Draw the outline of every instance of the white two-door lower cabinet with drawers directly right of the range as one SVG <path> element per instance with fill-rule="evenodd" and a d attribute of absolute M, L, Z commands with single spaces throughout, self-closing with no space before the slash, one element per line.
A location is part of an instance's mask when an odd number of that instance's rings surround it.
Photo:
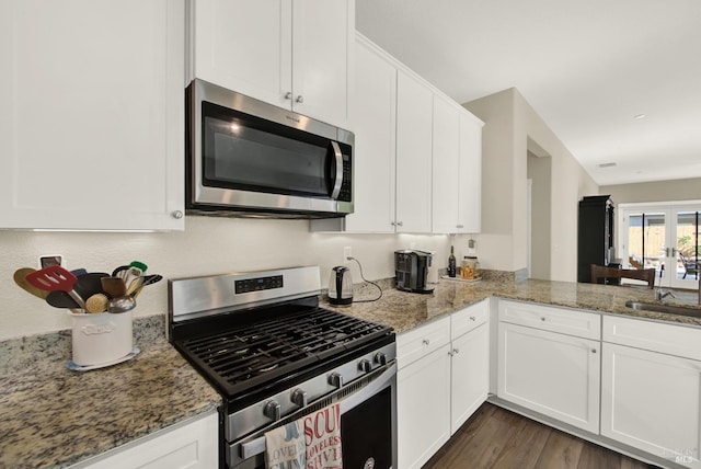
<path fill-rule="evenodd" d="M 489 300 L 399 335 L 399 468 L 421 468 L 486 400 Z"/>

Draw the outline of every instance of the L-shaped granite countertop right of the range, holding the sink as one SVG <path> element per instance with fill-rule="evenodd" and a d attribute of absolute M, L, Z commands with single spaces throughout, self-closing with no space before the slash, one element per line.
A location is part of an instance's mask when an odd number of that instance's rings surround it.
<path fill-rule="evenodd" d="M 357 302 L 357 300 L 377 297 L 377 289 L 370 286 L 363 287 L 355 293 L 355 301 L 349 307 L 335 307 L 323 301 L 324 307 L 391 325 L 398 333 L 409 331 L 492 296 L 701 327 L 701 318 L 628 308 L 625 306 L 628 300 L 659 302 L 655 300 L 655 291 L 645 286 L 612 286 L 536 279 L 521 282 L 484 279 L 475 283 L 441 279 L 434 293 L 427 295 L 401 291 L 390 287 L 389 284 L 382 285 L 382 298 L 378 301 Z M 675 295 L 676 298 L 666 298 L 665 304 L 701 310 L 701 306 L 697 305 L 697 291 L 676 290 Z"/>

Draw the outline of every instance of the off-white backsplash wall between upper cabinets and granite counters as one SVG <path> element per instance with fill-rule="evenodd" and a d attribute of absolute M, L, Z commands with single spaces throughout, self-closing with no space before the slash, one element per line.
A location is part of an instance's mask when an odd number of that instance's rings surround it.
<path fill-rule="evenodd" d="M 20 267 L 37 267 L 43 254 L 62 254 L 68 268 L 107 272 L 134 260 L 148 273 L 165 278 L 208 275 L 295 265 L 320 265 L 322 287 L 329 272 L 343 261 L 343 247 L 363 264 L 368 279 L 394 276 L 393 252 L 412 245 L 437 251 L 439 267 L 447 265 L 448 236 L 311 233 L 306 220 L 253 220 L 187 217 L 184 232 L 95 233 L 0 231 L 0 340 L 70 328 L 62 310 L 49 307 L 14 284 Z M 457 251 L 459 251 L 457 249 Z M 349 262 L 353 279 L 360 274 Z M 138 297 L 136 317 L 168 311 L 165 281 Z"/>

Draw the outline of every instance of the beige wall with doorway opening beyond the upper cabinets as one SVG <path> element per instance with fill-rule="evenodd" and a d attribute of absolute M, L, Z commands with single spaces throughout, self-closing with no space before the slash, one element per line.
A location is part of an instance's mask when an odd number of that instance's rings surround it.
<path fill-rule="evenodd" d="M 529 139 L 551 157 L 551 279 L 576 281 L 577 203 L 598 186 L 516 89 L 463 104 L 485 122 L 482 140 L 481 262 L 517 271 L 527 264 Z M 486 215 L 485 215 L 486 214 Z"/>

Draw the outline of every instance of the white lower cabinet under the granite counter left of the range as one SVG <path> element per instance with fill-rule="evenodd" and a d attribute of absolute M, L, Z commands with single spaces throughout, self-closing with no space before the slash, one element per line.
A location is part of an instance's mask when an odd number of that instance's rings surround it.
<path fill-rule="evenodd" d="M 71 469 L 216 469 L 219 419 L 216 411 L 164 428 Z"/>

